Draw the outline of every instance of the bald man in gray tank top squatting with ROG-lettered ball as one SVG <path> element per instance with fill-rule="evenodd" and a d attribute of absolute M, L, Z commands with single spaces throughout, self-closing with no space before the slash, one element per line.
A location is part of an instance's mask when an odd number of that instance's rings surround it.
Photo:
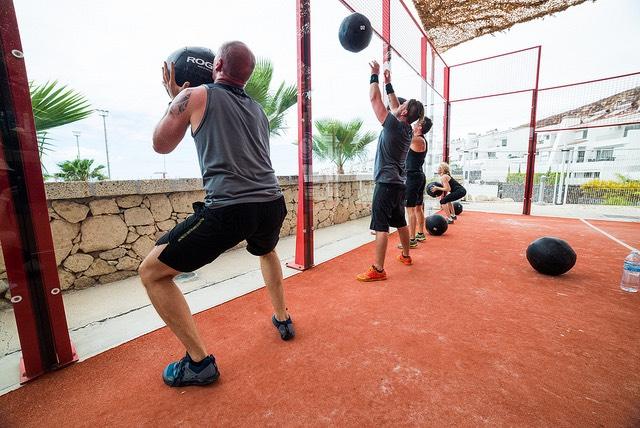
<path fill-rule="evenodd" d="M 220 376 L 173 278 L 211 263 L 241 241 L 260 258 L 273 325 L 283 340 L 295 335 L 275 251 L 287 209 L 271 167 L 269 121 L 244 92 L 254 67 L 251 50 L 236 41 L 220 47 L 213 84 L 178 86 L 174 64 L 163 69 L 172 102 L 153 133 L 153 148 L 170 153 L 190 127 L 206 193 L 193 204 L 194 214 L 161 237 L 140 265 L 151 303 L 187 351 L 164 369 L 169 386 L 208 385 Z"/>

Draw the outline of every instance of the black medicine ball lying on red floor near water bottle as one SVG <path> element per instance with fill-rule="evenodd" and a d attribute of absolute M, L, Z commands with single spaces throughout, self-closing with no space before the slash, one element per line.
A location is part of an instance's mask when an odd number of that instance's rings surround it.
<path fill-rule="evenodd" d="M 576 264 L 576 252 L 562 239 L 545 236 L 533 241 L 527 248 L 531 266 L 545 275 L 562 275 Z"/>

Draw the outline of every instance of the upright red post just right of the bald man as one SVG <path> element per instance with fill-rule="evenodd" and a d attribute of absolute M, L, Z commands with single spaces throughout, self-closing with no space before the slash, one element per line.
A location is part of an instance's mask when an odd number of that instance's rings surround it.
<path fill-rule="evenodd" d="M 298 220 L 293 269 L 313 267 L 313 122 L 311 118 L 311 0 L 297 0 Z"/>

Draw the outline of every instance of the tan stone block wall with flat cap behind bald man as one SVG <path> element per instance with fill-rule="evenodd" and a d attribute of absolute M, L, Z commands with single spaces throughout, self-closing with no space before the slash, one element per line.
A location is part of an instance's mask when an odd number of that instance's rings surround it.
<path fill-rule="evenodd" d="M 288 214 L 280 236 L 296 233 L 297 177 L 280 177 Z M 49 222 L 62 290 L 137 275 L 156 240 L 193 213 L 204 198 L 198 179 L 47 183 Z M 314 177 L 314 226 L 368 216 L 373 181 Z M 240 244 L 244 245 L 243 244 Z M 0 296 L 10 298 L 0 251 Z M 0 299 L 1 300 L 1 299 Z"/>

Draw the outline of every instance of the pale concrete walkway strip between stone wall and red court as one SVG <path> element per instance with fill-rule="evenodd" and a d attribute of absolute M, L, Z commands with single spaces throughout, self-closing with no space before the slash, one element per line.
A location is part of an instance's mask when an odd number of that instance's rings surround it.
<path fill-rule="evenodd" d="M 369 217 L 315 232 L 315 263 L 320 264 L 373 240 Z M 285 277 L 299 271 L 285 263 L 295 256 L 295 236 L 280 240 L 278 255 Z M 363 260 L 363 269 L 368 261 Z M 180 282 L 191 311 L 204 311 L 264 286 L 257 257 L 244 248 L 229 251 Z M 111 349 L 164 326 L 139 277 L 64 294 L 71 341 L 80 360 Z M 0 312 L 0 395 L 19 385 L 22 353 L 13 310 Z"/>

